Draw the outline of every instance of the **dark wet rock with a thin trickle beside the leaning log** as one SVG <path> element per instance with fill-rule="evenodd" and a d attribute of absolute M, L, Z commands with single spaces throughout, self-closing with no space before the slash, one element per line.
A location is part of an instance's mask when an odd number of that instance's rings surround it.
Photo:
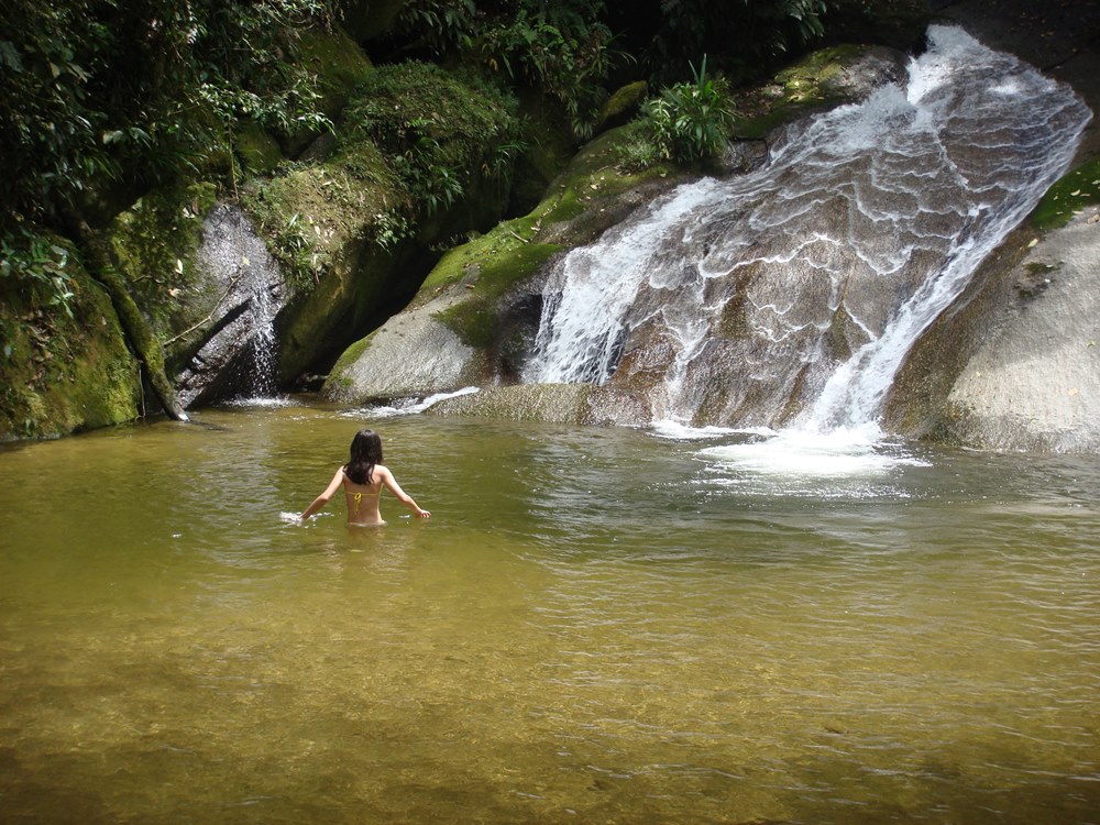
<path fill-rule="evenodd" d="M 176 376 L 184 406 L 275 392 L 275 317 L 288 295 L 278 266 L 234 206 L 211 210 L 196 266 L 218 295 L 202 343 Z"/>

